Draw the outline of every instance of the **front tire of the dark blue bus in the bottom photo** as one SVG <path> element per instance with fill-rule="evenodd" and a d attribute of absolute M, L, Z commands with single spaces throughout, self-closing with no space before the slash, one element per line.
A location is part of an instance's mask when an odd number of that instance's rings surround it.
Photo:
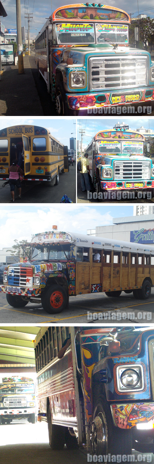
<path fill-rule="evenodd" d="M 108 453 L 127 455 L 132 452 L 131 430 L 122 430 L 113 425 L 110 405 L 102 396 L 98 398 L 97 404 L 94 406 L 90 445 L 92 454 L 97 456 L 100 454 L 105 456 Z"/>

